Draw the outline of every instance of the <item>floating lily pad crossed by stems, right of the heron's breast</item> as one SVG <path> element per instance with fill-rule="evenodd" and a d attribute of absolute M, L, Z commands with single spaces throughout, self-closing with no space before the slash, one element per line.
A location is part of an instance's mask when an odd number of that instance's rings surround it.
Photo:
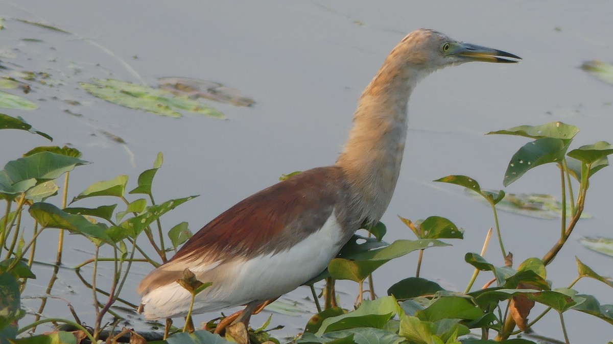
<path fill-rule="evenodd" d="M 468 195 L 483 200 L 474 192 L 467 191 Z M 543 193 L 507 193 L 504 199 L 496 206 L 498 210 L 511 212 L 517 215 L 536 217 L 538 219 L 560 219 L 562 217 L 562 203 L 552 195 Z M 566 216 L 571 216 L 570 206 L 566 206 Z M 592 215 L 581 213 L 582 219 L 589 219 Z"/>

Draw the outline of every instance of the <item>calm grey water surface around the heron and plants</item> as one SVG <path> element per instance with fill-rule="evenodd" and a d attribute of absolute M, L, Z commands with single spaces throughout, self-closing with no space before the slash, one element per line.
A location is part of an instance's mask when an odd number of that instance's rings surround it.
<path fill-rule="evenodd" d="M 156 153 L 162 151 L 164 166 L 154 187 L 157 200 L 201 195 L 168 214 L 167 228 L 188 221 L 196 231 L 245 196 L 276 182 L 282 173 L 333 163 L 360 92 L 398 40 L 422 27 L 524 58 L 519 65 L 467 64 L 437 72 L 411 97 L 405 163 L 383 219 L 389 231 L 387 241 L 411 238 L 396 215 L 412 220 L 441 215 L 465 230 L 464 241 L 425 252 L 422 277 L 463 290 L 472 272 L 463 263 L 463 255 L 479 252 L 485 232 L 493 225 L 488 207 L 466 198 L 458 187 L 432 182 L 447 174 L 466 174 L 482 187 L 500 189 L 508 160 L 525 140 L 482 134 L 563 121 L 581 129 L 574 147 L 613 141 L 613 88 L 578 69 L 586 60 L 611 61 L 611 1 L 19 0 L 0 1 L 0 8 L 7 27 L 0 35 L 0 50 L 9 55 L 2 61 L 48 71 L 64 83 L 58 88 L 39 87 L 27 96 L 35 101 L 45 99 L 38 101 L 39 110 L 6 113 L 23 116 L 53 136 L 53 144 L 70 143 L 83 152 L 83 159 L 93 162 L 71 175 L 70 197 L 94 181 L 118 174 L 128 174 L 130 185 L 135 185 L 138 174 L 150 168 Z M 72 34 L 15 19 L 53 24 Z M 91 77 L 153 85 L 157 78 L 168 76 L 219 81 L 253 97 L 256 105 L 239 108 L 211 102 L 226 113 L 227 120 L 193 114 L 162 118 L 95 99 L 76 86 L 77 81 Z M 78 100 L 83 105 L 72 106 L 63 100 Z M 101 130 L 120 136 L 126 144 L 109 140 Z M 0 140 L 2 163 L 48 144 L 23 132 L 2 132 Z M 603 170 L 593 179 L 586 212 L 594 218 L 577 226 L 575 238 L 611 237 L 611 178 L 611 170 Z M 530 171 L 506 190 L 558 195 L 557 168 Z M 559 231 L 554 220 L 501 213 L 500 221 L 506 248 L 517 263 L 542 256 Z M 45 240 L 55 241 L 56 231 L 46 235 Z M 77 249 L 89 247 L 83 243 L 70 237 L 66 266 L 91 256 Z M 55 244 L 48 251 L 39 249 L 37 259 L 53 261 L 54 252 Z M 501 264 L 499 255 L 492 242 L 486 257 Z M 576 276 L 575 255 L 597 272 L 613 275 L 611 258 L 571 239 L 549 268 L 548 278 L 555 287 L 567 286 Z M 406 256 L 378 271 L 377 293 L 385 294 L 400 277 L 414 274 L 416 256 Z M 136 285 L 149 269 L 135 266 L 130 284 Z M 91 270 L 84 271 L 91 274 Z M 44 293 L 50 271 L 40 268 L 36 273 L 38 279 L 28 290 L 31 295 Z M 482 276 L 476 285 L 488 279 Z M 576 288 L 595 294 L 604 304 L 613 303 L 611 289 L 599 283 L 582 281 Z M 351 305 L 357 286 L 341 283 L 340 289 L 349 293 L 341 296 L 343 304 Z M 54 293 L 69 298 L 82 319 L 93 315 L 88 305 L 91 292 L 72 271 L 61 273 Z M 300 288 L 289 298 L 300 300 L 308 295 L 306 288 Z M 132 288 L 124 297 L 136 303 L 139 299 Z M 38 301 L 27 301 L 26 306 L 36 309 Z M 45 316 L 66 314 L 60 301 L 50 301 L 45 310 Z M 536 314 L 534 310 L 533 316 Z M 254 323 L 266 316 L 257 316 Z M 611 327 L 603 321 L 577 312 L 565 316 L 571 342 L 586 342 L 586 338 L 592 343 L 606 342 L 613 337 Z M 211 317 L 201 315 L 196 320 Z M 275 314 L 273 324 L 286 324 L 281 333 L 293 334 L 307 317 Z M 548 315 L 536 330 L 562 337 L 555 314 Z"/>

